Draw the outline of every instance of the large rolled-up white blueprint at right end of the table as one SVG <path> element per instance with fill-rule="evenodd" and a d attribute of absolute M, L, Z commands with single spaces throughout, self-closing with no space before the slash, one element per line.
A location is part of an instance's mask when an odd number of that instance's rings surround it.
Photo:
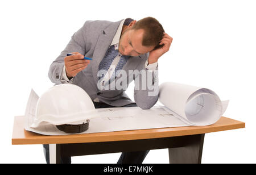
<path fill-rule="evenodd" d="M 229 102 L 221 102 L 210 89 L 175 82 L 164 82 L 159 86 L 159 101 L 183 122 L 194 126 L 217 122 Z"/>

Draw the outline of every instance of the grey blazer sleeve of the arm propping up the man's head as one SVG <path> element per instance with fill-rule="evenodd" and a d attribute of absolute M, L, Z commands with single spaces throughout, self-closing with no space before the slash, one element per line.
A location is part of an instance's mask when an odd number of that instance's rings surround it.
<path fill-rule="evenodd" d="M 158 101 L 158 65 L 155 70 L 148 70 L 144 62 L 142 61 L 142 69 L 134 78 L 134 101 L 142 109 L 150 109 Z"/>

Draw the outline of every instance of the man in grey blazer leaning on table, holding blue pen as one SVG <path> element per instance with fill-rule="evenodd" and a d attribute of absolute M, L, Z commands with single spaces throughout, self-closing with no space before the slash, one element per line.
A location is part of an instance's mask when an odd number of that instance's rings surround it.
<path fill-rule="evenodd" d="M 118 22 L 89 20 L 52 62 L 49 78 L 55 85 L 69 83 L 82 87 L 96 108 L 150 109 L 158 101 L 158 59 L 171 43 L 172 38 L 152 17 L 138 22 L 131 18 Z M 75 55 L 67 56 L 71 52 Z M 125 93 L 133 80 L 135 102 Z M 48 162 L 48 145 L 44 148 Z M 123 152 L 118 163 L 142 163 L 147 153 Z M 61 162 L 71 163 L 71 158 L 61 157 Z"/>

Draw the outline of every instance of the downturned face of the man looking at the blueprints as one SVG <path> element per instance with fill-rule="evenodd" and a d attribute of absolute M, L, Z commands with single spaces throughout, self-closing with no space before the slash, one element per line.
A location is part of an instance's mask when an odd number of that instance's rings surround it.
<path fill-rule="evenodd" d="M 143 30 L 131 30 L 127 28 L 121 35 L 118 50 L 122 55 L 139 56 L 152 51 L 154 46 L 146 47 L 142 45 Z"/>

